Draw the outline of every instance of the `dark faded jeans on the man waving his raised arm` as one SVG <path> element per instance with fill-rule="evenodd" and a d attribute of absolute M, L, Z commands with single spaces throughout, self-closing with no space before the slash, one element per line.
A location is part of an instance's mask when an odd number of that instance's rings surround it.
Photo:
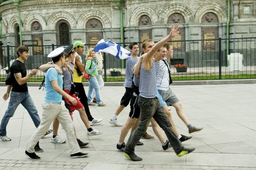
<path fill-rule="evenodd" d="M 166 116 L 164 107 L 160 105 L 158 98 L 143 98 L 139 97 L 138 105 L 140 106 L 140 121 L 136 130 L 129 137 L 125 153 L 134 153 L 135 146 L 140 140 L 141 136 L 146 133 L 146 129 L 149 120 L 153 117 L 159 126 L 165 131 L 165 135 L 173 147 L 176 154 L 183 150 L 183 145 L 181 141 L 175 136 L 172 131 L 170 120 Z"/>

